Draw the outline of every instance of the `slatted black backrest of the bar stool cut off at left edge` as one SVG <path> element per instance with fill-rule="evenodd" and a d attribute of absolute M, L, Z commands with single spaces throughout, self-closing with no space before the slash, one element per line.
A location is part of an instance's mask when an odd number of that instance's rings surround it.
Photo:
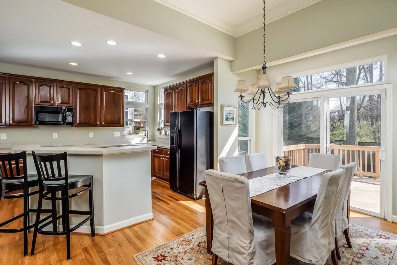
<path fill-rule="evenodd" d="M 0 155 L 0 182 L 18 179 L 27 181 L 26 152 Z"/>

